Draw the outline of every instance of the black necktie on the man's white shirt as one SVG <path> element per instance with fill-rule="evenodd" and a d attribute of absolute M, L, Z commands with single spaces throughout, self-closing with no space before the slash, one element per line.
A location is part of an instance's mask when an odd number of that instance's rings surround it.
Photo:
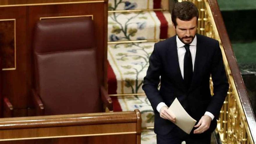
<path fill-rule="evenodd" d="M 184 82 L 189 89 L 193 77 L 193 64 L 189 45 L 184 45 L 184 47 L 186 49 L 184 56 Z"/>

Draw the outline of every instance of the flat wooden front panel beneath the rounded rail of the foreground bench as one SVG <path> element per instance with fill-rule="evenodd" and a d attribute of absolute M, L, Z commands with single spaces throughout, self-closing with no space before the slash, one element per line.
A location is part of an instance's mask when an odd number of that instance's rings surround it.
<path fill-rule="evenodd" d="M 0 138 L 1 140 L 19 138 L 35 139 L 67 136 L 116 135 L 123 134 L 123 132 L 128 134 L 136 134 L 136 123 L 81 125 L 66 127 L 63 126 L 31 129 L 9 129 L 1 130 Z"/>

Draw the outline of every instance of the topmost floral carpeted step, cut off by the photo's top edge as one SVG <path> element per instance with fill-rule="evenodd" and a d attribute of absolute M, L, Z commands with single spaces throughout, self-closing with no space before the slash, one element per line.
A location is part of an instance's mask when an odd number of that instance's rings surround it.
<path fill-rule="evenodd" d="M 168 9 L 168 0 L 109 0 L 109 10 Z"/>

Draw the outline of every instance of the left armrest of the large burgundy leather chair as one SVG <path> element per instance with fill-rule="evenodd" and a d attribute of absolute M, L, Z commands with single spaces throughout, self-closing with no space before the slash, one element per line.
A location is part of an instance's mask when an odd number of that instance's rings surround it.
<path fill-rule="evenodd" d="M 44 105 L 34 89 L 32 89 L 33 103 L 36 109 L 36 115 L 44 115 Z"/>

